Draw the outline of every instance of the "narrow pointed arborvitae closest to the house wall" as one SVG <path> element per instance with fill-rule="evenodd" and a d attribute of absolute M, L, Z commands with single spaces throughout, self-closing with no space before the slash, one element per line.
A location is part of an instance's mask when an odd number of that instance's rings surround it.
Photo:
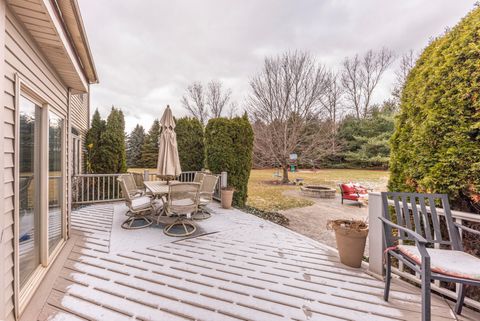
<path fill-rule="evenodd" d="M 95 110 L 90 129 L 88 130 L 85 139 L 85 144 L 87 146 L 85 157 L 87 173 L 102 172 L 103 147 L 101 137 L 105 132 L 105 127 L 105 120 L 100 117 L 98 109 Z"/>

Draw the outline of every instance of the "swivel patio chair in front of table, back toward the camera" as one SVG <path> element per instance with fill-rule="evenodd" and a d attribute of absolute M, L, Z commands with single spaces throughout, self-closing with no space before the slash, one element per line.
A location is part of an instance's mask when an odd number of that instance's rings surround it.
<path fill-rule="evenodd" d="M 176 183 L 169 186 L 165 203 L 167 216 L 177 216 L 176 220 L 165 226 L 163 232 L 168 236 L 188 236 L 197 230 L 191 221 L 198 210 L 199 183 Z M 178 231 L 179 230 L 179 231 Z"/>

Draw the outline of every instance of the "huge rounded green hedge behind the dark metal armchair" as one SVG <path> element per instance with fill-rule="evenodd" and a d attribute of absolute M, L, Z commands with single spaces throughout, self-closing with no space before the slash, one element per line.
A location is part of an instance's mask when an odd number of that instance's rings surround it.
<path fill-rule="evenodd" d="M 480 8 L 435 39 L 410 72 L 391 139 L 389 189 L 480 202 Z"/>

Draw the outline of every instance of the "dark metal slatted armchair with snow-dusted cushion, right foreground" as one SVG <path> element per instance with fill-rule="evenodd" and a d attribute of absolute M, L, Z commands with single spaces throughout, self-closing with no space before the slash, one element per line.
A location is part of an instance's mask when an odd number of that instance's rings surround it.
<path fill-rule="evenodd" d="M 432 280 L 459 284 L 455 312 L 461 314 L 465 286 L 480 285 L 480 259 L 463 251 L 460 232 L 480 235 L 480 231 L 453 221 L 445 194 L 384 192 L 382 201 L 383 215 L 379 218 L 383 223 L 386 246 L 385 301 L 388 301 L 394 257 L 420 275 L 422 320 L 431 319 Z M 441 216 L 448 235 L 442 235 Z M 432 248 L 435 244 L 442 248 Z"/>

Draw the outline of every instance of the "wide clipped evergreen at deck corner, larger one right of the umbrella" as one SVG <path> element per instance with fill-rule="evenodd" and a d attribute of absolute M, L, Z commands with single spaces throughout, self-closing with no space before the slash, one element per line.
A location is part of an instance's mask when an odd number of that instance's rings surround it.
<path fill-rule="evenodd" d="M 246 116 L 210 119 L 205 129 L 208 169 L 228 173 L 228 185 L 235 188 L 233 204 L 243 207 L 252 168 L 253 129 Z"/>

